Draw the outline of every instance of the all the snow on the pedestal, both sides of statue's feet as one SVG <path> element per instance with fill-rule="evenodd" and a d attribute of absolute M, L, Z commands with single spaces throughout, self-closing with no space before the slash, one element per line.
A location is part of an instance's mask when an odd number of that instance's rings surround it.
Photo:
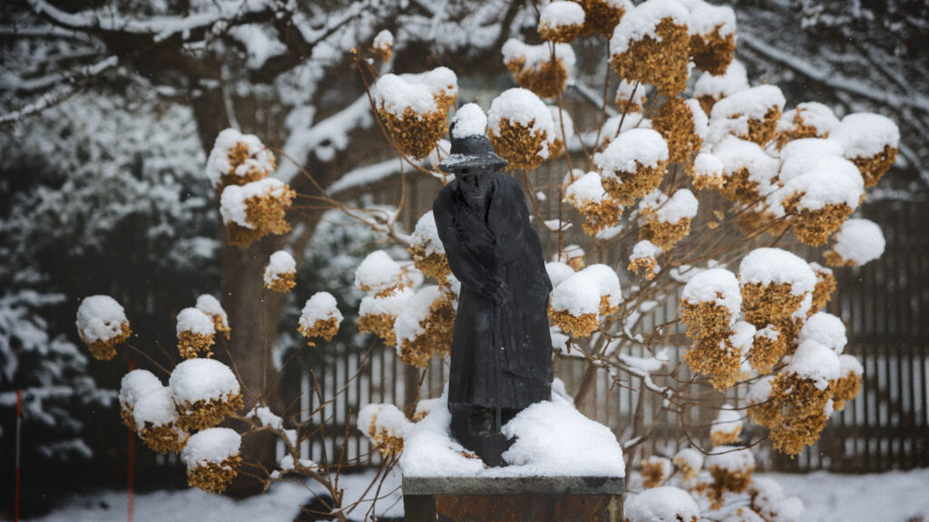
<path fill-rule="evenodd" d="M 403 476 L 625 476 L 622 447 L 609 428 L 554 393 L 504 424 L 504 435 L 515 438 L 504 452 L 504 467 L 485 468 L 479 458 L 466 456 L 450 425 L 443 395 L 403 437 Z"/>

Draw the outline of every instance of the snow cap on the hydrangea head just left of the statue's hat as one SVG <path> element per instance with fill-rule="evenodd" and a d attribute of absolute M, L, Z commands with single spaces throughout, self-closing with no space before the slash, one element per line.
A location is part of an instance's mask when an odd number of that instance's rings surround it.
<path fill-rule="evenodd" d="M 398 118 L 412 110 L 417 117 L 438 110 L 435 97 L 458 94 L 458 78 L 447 67 L 419 74 L 385 74 L 374 84 L 374 102 L 378 109 Z"/>

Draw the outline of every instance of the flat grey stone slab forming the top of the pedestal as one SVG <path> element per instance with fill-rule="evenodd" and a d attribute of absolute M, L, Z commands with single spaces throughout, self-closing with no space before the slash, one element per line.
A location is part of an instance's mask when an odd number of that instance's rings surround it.
<path fill-rule="evenodd" d="M 622 476 L 404 476 L 405 495 L 622 495 Z"/>

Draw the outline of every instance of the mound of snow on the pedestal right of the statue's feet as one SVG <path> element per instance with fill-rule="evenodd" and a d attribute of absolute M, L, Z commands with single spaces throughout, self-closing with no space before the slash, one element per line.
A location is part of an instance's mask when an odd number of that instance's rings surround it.
<path fill-rule="evenodd" d="M 503 456 L 521 476 L 625 476 L 613 432 L 556 394 L 520 411 L 502 431 L 516 438 Z"/>

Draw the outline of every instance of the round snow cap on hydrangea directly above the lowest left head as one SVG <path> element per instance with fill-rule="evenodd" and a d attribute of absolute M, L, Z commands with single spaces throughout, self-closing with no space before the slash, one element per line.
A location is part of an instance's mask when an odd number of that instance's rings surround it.
<path fill-rule="evenodd" d="M 177 404 L 185 401 L 234 396 L 239 393 L 239 381 L 229 366 L 216 359 L 188 359 L 178 364 L 168 379 L 171 394 Z"/>

